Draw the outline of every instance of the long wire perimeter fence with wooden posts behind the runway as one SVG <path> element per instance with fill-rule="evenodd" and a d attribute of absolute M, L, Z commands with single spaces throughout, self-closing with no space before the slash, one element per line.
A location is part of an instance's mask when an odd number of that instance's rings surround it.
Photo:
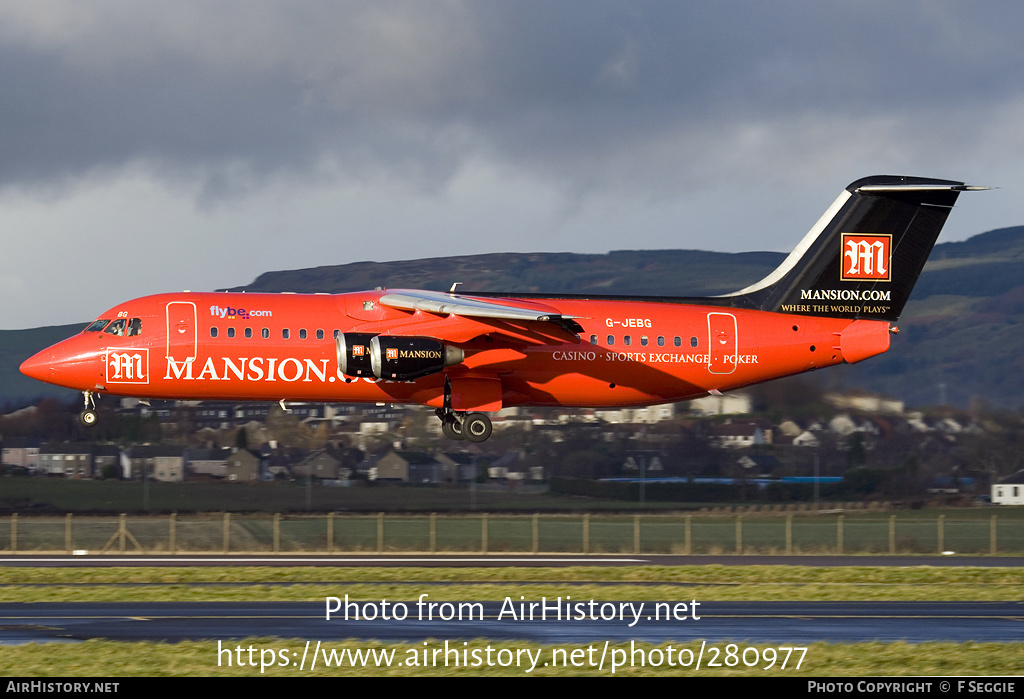
<path fill-rule="evenodd" d="M 3 530 L 9 536 L 3 537 Z M 6 540 L 3 540 L 6 538 Z M 0 553 L 1024 554 L 1024 520 L 842 514 L 0 518 Z"/>

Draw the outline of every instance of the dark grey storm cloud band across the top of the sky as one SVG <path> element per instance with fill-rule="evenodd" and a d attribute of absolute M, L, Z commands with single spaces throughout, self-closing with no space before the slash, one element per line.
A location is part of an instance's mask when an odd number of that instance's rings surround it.
<path fill-rule="evenodd" d="M 31 20 L 0 35 L 0 184 L 143 162 L 208 193 L 325 172 L 429 186 L 472 157 L 593 184 L 749 124 L 893 117 L 920 133 L 1024 88 L 1010 4 L 127 7 L 56 38 Z"/>

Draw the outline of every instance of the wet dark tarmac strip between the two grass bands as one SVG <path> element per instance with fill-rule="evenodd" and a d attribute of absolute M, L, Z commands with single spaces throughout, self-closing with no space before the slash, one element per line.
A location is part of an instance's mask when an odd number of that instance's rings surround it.
<path fill-rule="evenodd" d="M 0 643 L 267 637 L 387 642 L 485 638 L 545 644 L 693 640 L 770 644 L 1024 642 L 1022 602 L 703 601 L 693 605 L 694 601 L 684 599 L 605 603 L 564 597 L 473 604 L 440 597 L 432 597 L 431 601 L 438 605 L 429 610 L 434 617 L 431 619 L 426 618 L 425 606 L 409 599 L 388 605 L 382 605 L 380 600 L 358 601 L 358 606 L 348 607 L 347 620 L 344 606 L 327 619 L 326 601 L 2 604 Z M 445 602 L 447 607 L 443 606 Z M 529 603 L 537 604 L 530 608 Z"/>

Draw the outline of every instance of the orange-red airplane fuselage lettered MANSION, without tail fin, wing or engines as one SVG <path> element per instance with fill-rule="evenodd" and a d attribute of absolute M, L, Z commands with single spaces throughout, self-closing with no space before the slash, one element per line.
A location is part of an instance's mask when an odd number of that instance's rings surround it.
<path fill-rule="evenodd" d="M 135 299 L 39 358 L 38 378 L 146 398 L 420 403 L 457 409 L 625 406 L 685 400 L 889 347 L 889 323 L 684 303 L 559 299 L 581 341 L 493 319 L 382 305 L 386 292 L 341 295 L 182 293 Z M 522 300 L 509 298 L 522 305 Z M 530 299 L 530 304 L 543 300 Z M 115 321 L 123 320 L 118 324 Z M 540 324 L 540 323 L 538 323 Z M 389 325 L 458 342 L 464 359 L 415 381 L 351 377 L 339 334 Z M 422 332 L 417 332 L 417 329 Z M 386 331 L 385 331 L 386 333 Z M 495 342 L 495 335 L 505 342 Z M 845 338 L 845 339 L 844 339 Z M 424 350 L 429 351 L 429 350 Z"/>

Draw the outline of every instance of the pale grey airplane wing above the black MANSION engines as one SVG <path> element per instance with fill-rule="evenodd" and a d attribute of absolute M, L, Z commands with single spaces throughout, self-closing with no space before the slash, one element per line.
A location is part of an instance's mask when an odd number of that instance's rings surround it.
<path fill-rule="evenodd" d="M 380 303 L 390 308 L 408 311 L 425 311 L 439 315 L 460 315 L 469 318 L 496 318 L 499 320 L 536 320 L 551 322 L 575 335 L 583 332 L 573 315 L 562 315 L 557 309 L 542 304 L 511 305 L 484 299 L 475 299 L 444 292 L 395 290 L 381 296 Z"/>

